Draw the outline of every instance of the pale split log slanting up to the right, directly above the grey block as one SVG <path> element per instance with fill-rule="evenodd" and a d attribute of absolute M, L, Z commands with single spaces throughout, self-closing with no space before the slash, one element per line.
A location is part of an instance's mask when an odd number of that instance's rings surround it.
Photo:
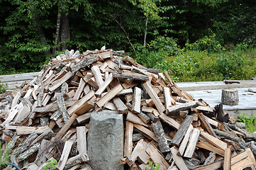
<path fill-rule="evenodd" d="M 123 86 L 121 84 L 115 86 L 113 89 L 111 89 L 111 91 L 108 91 L 106 95 L 104 95 L 98 101 L 96 101 L 96 105 L 99 106 L 99 108 L 101 108 L 102 106 L 104 106 L 105 103 L 110 101 L 113 97 L 116 96 L 116 94 L 118 94 L 122 90 Z"/>

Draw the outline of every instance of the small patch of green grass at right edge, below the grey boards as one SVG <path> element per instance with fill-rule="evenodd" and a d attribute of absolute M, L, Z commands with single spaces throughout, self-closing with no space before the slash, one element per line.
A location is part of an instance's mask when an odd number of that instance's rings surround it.
<path fill-rule="evenodd" d="M 238 116 L 238 121 L 245 123 L 248 132 L 256 132 L 256 116 L 255 115 L 240 115 Z"/>

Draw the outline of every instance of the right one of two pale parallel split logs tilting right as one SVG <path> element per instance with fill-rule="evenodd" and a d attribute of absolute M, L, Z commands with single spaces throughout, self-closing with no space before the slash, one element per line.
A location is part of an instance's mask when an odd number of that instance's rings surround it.
<path fill-rule="evenodd" d="M 196 143 L 199 140 L 200 130 L 194 128 L 192 130 L 191 135 L 189 137 L 189 143 L 187 145 L 186 152 L 184 153 L 184 157 L 191 158 L 194 154 L 194 150 L 196 149 Z"/>

